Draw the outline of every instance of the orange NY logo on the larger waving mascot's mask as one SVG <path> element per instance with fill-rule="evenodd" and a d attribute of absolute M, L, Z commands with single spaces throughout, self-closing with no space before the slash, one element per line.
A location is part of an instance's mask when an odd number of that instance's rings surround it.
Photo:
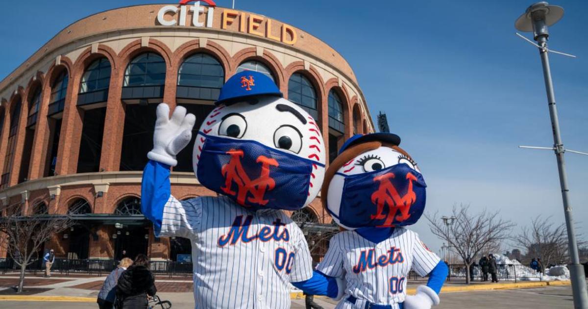
<path fill-rule="evenodd" d="M 255 180 L 250 180 L 249 175 L 243 169 L 241 158 L 243 158 L 243 151 L 240 149 L 231 149 L 226 152 L 230 155 L 229 163 L 222 166 L 222 175 L 225 178 L 225 187 L 220 190 L 228 195 L 237 198 L 239 205 L 245 205 L 245 201 L 251 204 L 265 205 L 268 200 L 264 200 L 263 196 L 266 191 L 273 190 L 276 187 L 276 182 L 269 175 L 269 167 L 278 166 L 278 161 L 260 155 L 256 162 L 261 163 L 261 174 Z M 237 192 L 231 189 L 233 183 L 237 185 Z M 250 195 L 248 197 L 248 194 Z"/>

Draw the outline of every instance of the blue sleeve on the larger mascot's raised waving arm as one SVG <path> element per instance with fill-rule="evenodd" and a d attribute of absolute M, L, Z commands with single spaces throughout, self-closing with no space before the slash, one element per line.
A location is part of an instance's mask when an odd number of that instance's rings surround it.
<path fill-rule="evenodd" d="M 153 231 L 159 235 L 163 208 L 171 195 L 169 165 L 149 160 L 141 181 L 141 211 L 153 222 Z"/>

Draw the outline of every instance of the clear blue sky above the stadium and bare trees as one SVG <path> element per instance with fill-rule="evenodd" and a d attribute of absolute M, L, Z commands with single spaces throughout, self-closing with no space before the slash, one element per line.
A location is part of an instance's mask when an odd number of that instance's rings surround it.
<path fill-rule="evenodd" d="M 1 1 L 0 77 L 77 19 L 161 2 Z M 537 49 L 515 36 L 515 19 L 532 3 L 236 0 L 236 8 L 304 29 L 348 60 L 372 115 L 386 112 L 419 162 L 427 212 L 468 203 L 499 210 L 519 231 L 539 214 L 564 222 L 553 152 L 517 148 L 553 144 Z M 550 47 L 578 56 L 550 57 L 563 141 L 588 151 L 588 2 L 551 4 L 566 13 L 550 28 Z M 588 156 L 566 160 L 576 228 L 588 235 Z M 438 252 L 424 218 L 413 229 Z"/>

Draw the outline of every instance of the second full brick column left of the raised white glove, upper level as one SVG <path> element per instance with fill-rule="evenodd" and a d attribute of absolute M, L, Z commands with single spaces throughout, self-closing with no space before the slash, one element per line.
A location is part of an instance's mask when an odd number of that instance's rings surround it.
<path fill-rule="evenodd" d="M 82 138 L 83 111 L 78 111 L 79 72 L 69 72 L 64 114 L 55 171 L 58 175 L 75 174 L 78 168 L 79 143 Z"/>

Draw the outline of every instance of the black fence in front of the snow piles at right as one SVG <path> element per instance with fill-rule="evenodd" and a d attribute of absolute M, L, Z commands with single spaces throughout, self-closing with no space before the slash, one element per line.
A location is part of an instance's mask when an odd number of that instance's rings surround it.
<path fill-rule="evenodd" d="M 468 274 L 472 281 L 483 281 L 482 268 L 479 265 L 470 266 Z M 450 264 L 447 280 L 452 278 L 466 278 L 467 268 L 463 264 Z M 500 281 L 540 281 L 542 273 L 533 270 L 526 265 L 520 264 L 498 264 L 496 265 L 496 278 Z M 492 280 L 492 274 L 488 273 L 488 280 Z"/>

